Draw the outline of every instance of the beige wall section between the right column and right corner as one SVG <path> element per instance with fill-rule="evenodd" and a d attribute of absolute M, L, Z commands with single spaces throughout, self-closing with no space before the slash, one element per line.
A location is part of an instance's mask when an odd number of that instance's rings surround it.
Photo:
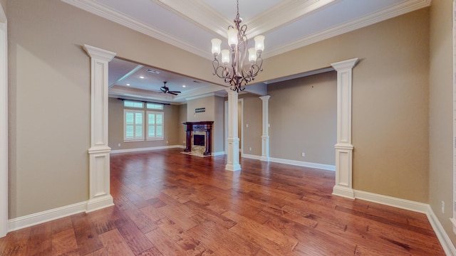
<path fill-rule="evenodd" d="M 353 69 L 353 188 L 428 202 L 428 9 L 344 37 Z M 361 36 L 362 35 L 362 36 Z"/>

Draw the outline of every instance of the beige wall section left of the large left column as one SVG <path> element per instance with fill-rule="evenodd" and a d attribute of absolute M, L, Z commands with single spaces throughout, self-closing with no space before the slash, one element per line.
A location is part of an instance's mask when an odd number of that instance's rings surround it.
<path fill-rule="evenodd" d="M 16 218 L 88 199 L 90 62 L 74 43 L 79 36 L 58 23 L 70 11 L 56 11 L 60 1 L 7 5 L 9 218 Z"/>

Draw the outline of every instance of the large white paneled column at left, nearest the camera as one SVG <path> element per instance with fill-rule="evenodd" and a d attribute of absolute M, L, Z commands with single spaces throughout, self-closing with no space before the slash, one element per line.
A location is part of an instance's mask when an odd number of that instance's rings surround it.
<path fill-rule="evenodd" d="M 90 56 L 90 187 L 86 210 L 90 212 L 114 205 L 109 188 L 108 63 L 115 53 L 88 45 L 83 48 Z"/>

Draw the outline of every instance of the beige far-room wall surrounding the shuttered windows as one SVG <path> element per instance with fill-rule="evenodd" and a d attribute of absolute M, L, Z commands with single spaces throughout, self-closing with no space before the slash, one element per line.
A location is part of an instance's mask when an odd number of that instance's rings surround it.
<path fill-rule="evenodd" d="M 180 122 L 179 105 L 164 105 L 163 114 L 165 116 L 164 138 L 163 140 L 144 142 L 124 142 L 123 141 L 123 101 L 117 98 L 109 98 L 109 124 L 108 124 L 108 143 L 111 149 L 140 149 L 154 146 L 175 146 L 182 145 L 180 132 L 184 130 Z M 147 109 L 143 109 L 147 112 Z M 158 111 L 160 110 L 152 110 Z M 120 144 L 120 146 L 118 146 Z"/>

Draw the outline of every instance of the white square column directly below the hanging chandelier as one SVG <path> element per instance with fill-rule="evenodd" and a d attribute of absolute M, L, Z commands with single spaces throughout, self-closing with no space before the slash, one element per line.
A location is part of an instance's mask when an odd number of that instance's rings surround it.
<path fill-rule="evenodd" d="M 228 92 L 228 137 L 227 137 L 227 171 L 239 171 L 239 137 L 237 137 L 237 92 L 227 88 Z"/>

